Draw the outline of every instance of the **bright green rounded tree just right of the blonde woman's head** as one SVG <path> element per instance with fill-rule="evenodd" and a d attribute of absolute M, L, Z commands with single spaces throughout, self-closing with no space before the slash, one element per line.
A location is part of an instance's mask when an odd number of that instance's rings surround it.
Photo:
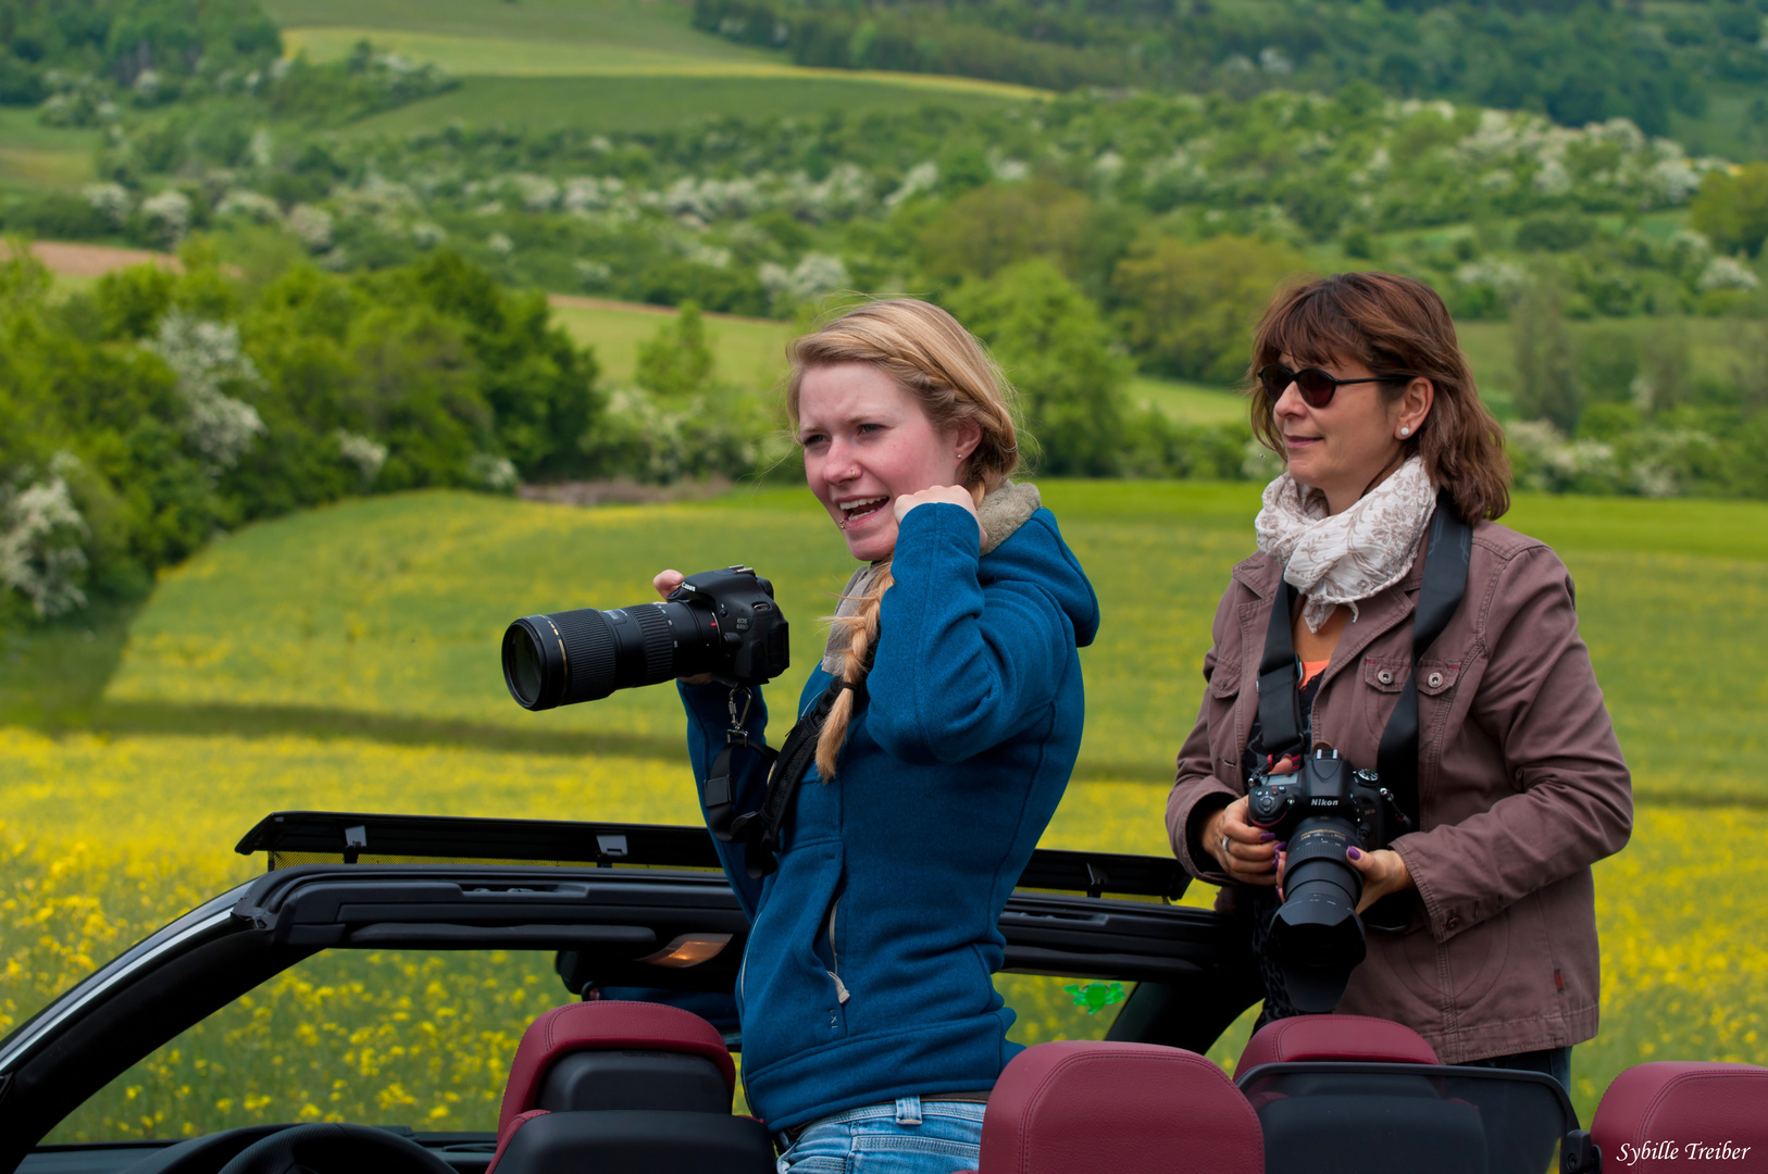
<path fill-rule="evenodd" d="M 1052 262 L 972 278 L 948 302 L 1018 387 L 1043 472 L 1119 472 L 1130 364 L 1112 354 L 1098 308 Z"/>

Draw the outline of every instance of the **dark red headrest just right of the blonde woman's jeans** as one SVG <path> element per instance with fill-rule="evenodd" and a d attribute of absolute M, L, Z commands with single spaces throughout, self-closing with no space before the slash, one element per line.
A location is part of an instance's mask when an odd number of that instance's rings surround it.
<path fill-rule="evenodd" d="M 1153 1043 L 1040 1043 L 983 1116 L 981 1174 L 1264 1174 L 1252 1105 L 1216 1064 Z"/>

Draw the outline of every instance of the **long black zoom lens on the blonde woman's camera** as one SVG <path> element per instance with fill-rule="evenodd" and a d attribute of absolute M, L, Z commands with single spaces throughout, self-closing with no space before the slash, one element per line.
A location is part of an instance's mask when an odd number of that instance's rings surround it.
<path fill-rule="evenodd" d="M 707 672 L 713 615 L 684 603 L 525 615 L 504 631 L 504 684 L 523 709 L 553 709 L 615 690 Z"/>

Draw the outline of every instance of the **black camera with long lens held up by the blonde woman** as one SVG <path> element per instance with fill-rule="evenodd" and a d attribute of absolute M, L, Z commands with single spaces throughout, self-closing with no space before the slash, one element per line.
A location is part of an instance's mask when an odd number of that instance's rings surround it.
<path fill-rule="evenodd" d="M 773 583 L 746 566 L 690 575 L 667 601 L 525 615 L 504 631 L 504 684 L 525 709 L 702 672 L 730 688 L 766 684 L 789 665 Z"/>

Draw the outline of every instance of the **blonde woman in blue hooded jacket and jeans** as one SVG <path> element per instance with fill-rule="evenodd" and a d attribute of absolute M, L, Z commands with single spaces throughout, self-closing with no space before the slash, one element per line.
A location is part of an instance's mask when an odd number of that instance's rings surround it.
<path fill-rule="evenodd" d="M 1008 479 L 1010 396 L 976 339 L 914 299 L 792 345 L 804 479 L 861 566 L 799 697 L 827 721 L 778 870 L 755 879 L 720 843 L 751 923 L 743 1082 L 783 1174 L 974 1169 L 1018 1050 L 995 923 L 1080 748 L 1075 649 L 1098 601 L 1038 490 Z M 732 702 L 755 741 L 767 714 L 716 684 L 681 693 L 704 790 Z M 735 810 L 760 804 L 764 774 L 734 773 Z"/>

